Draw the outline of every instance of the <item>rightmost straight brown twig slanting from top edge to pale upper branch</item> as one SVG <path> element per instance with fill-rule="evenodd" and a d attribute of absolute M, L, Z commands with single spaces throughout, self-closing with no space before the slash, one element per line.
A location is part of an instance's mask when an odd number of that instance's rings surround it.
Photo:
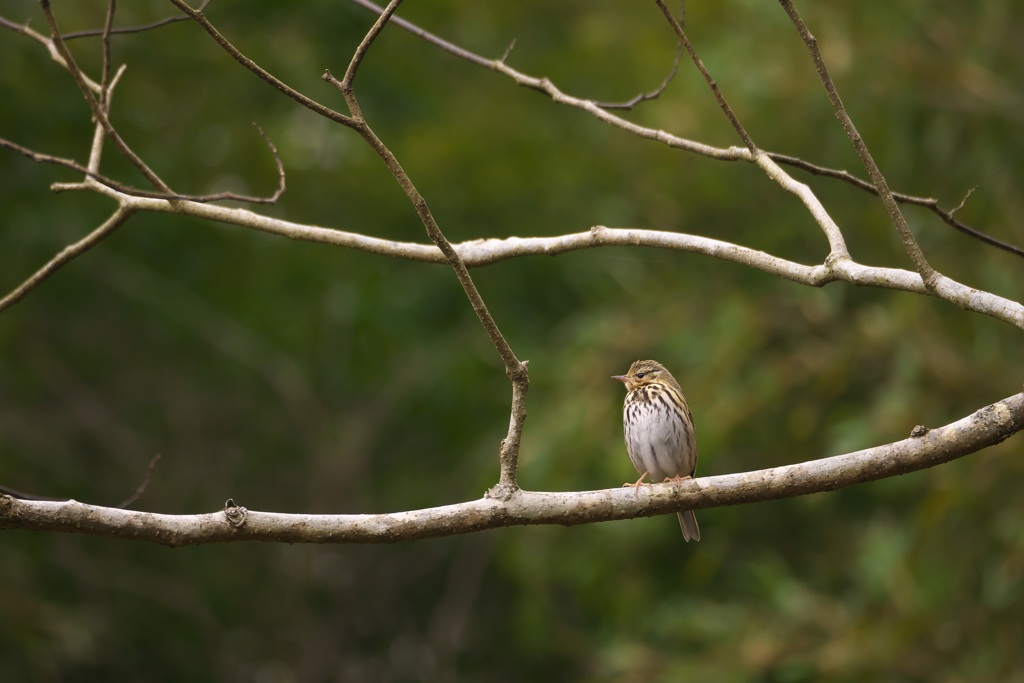
<path fill-rule="evenodd" d="M 657 1 L 660 2 L 660 0 Z M 811 54 L 814 68 L 818 72 L 818 78 L 821 79 L 821 85 L 824 86 L 825 93 L 828 95 L 828 101 L 831 102 L 833 110 L 836 112 L 836 117 L 843 124 L 843 130 L 846 131 L 850 141 L 853 142 L 853 146 L 857 151 L 857 156 L 860 157 L 860 161 L 867 170 L 867 174 L 871 177 L 871 182 L 878 189 L 879 197 L 882 198 L 882 203 L 885 204 L 889 216 L 892 218 L 893 223 L 896 224 L 896 229 L 903 241 L 903 248 L 906 250 L 910 260 L 913 261 L 914 266 L 916 266 L 918 272 L 921 273 L 922 280 L 925 281 L 925 285 L 934 288 L 941 275 L 932 268 L 928 259 L 925 258 L 925 253 L 918 245 L 918 241 L 913 239 L 913 234 L 906 224 L 906 219 L 903 217 L 903 212 L 900 211 L 892 190 L 889 189 L 889 184 L 882 175 L 882 171 L 879 170 L 874 159 L 871 158 L 871 153 L 867 151 L 867 145 L 864 143 L 860 133 L 857 132 L 856 126 L 853 125 L 850 115 L 847 114 L 846 108 L 843 105 L 843 100 L 839 96 L 839 91 L 836 89 L 836 84 L 833 83 L 831 77 L 828 76 L 824 59 L 821 58 L 817 39 L 807 29 L 807 25 L 800 17 L 800 13 L 794 7 L 792 0 L 779 0 L 779 3 L 782 5 L 785 13 L 788 14 L 790 20 L 797 28 L 797 32 L 800 34 L 801 39 L 803 39 L 804 44 L 807 45 L 807 50 Z"/>

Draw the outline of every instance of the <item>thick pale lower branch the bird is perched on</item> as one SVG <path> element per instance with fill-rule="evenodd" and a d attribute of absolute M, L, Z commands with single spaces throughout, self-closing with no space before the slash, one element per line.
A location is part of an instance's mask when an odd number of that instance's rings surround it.
<path fill-rule="evenodd" d="M 398 543 L 526 524 L 574 525 L 759 503 L 844 488 L 935 467 L 995 445 L 1024 429 L 1024 394 L 1010 396 L 945 427 L 915 428 L 910 438 L 797 465 L 701 477 L 644 487 L 591 492 L 516 490 L 411 512 L 303 515 L 229 506 L 201 515 L 164 515 L 76 501 L 19 501 L 0 497 L 0 528 L 89 533 L 198 546 L 236 541 L 284 543 Z"/>

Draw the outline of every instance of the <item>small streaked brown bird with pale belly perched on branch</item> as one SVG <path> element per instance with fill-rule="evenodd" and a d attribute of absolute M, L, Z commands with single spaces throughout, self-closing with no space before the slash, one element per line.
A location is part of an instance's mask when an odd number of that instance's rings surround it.
<path fill-rule="evenodd" d="M 626 452 L 637 472 L 636 483 L 625 483 L 639 490 L 643 478 L 651 481 L 692 479 L 697 467 L 697 436 L 693 418 L 679 382 L 662 364 L 637 360 L 626 375 L 611 379 L 626 385 L 623 427 Z M 679 513 L 679 526 L 686 541 L 699 541 L 700 528 L 692 510 Z"/>

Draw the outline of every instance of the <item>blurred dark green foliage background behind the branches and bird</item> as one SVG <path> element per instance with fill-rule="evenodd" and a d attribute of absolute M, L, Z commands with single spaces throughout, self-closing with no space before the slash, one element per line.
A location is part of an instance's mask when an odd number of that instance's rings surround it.
<path fill-rule="evenodd" d="M 65 31 L 104 3 L 57 1 Z M 798 5 L 894 188 L 1024 244 L 1024 7 Z M 44 31 L 38 6 L 2 5 Z M 117 25 L 173 13 L 122 2 Z M 215 0 L 246 54 L 344 111 L 372 24 L 335 1 Z M 657 8 L 605 0 L 409 3 L 400 15 L 564 91 L 655 88 L 675 40 Z M 690 3 L 687 30 L 763 148 L 863 175 L 777 3 Z M 95 77 L 95 39 L 72 43 Z M 426 242 L 383 164 L 239 67 L 189 23 L 114 41 L 128 63 L 113 121 L 179 191 L 269 194 L 273 138 L 290 220 Z M 38 43 L 0 33 L 0 135 L 84 162 L 86 105 Z M 357 81 L 371 125 L 453 242 L 595 224 L 727 240 L 803 263 L 827 245 L 751 165 L 644 141 L 395 28 Z M 691 65 L 625 115 L 738 144 Z M 144 181 L 109 147 L 104 171 Z M 854 257 L 910 267 L 881 203 L 798 171 Z M 0 289 L 113 210 L 54 196 L 70 171 L 0 154 Z M 1024 262 L 919 209 L 932 263 L 1014 300 Z M 473 271 L 530 360 L 519 480 L 634 477 L 622 386 L 653 357 L 679 378 L 699 475 L 906 437 L 1021 390 L 1021 332 L 938 300 L 801 287 L 685 253 L 602 249 Z M 0 483 L 135 509 L 358 513 L 480 497 L 498 476 L 510 386 L 445 267 L 138 215 L 0 315 Z M 170 550 L 0 533 L 0 678 L 17 681 L 1024 681 L 1020 437 L 926 472 L 790 501 L 530 527 L 387 547 L 239 544 Z"/>

